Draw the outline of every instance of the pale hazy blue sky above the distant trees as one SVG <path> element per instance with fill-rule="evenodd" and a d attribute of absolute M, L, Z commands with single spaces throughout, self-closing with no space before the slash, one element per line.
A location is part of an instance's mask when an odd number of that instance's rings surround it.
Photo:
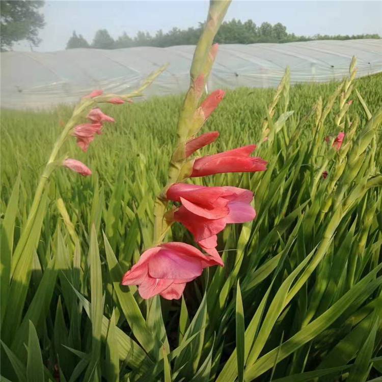
<path fill-rule="evenodd" d="M 188 28 L 204 21 L 207 1 L 47 1 L 43 8 L 46 25 L 40 32 L 42 42 L 36 51 L 65 49 L 73 30 L 91 42 L 98 29 L 107 29 L 117 38 L 124 31 L 133 37 L 138 31 L 155 34 L 174 26 Z M 226 20 L 251 18 L 257 25 L 263 21 L 281 22 L 289 33 L 312 36 L 319 34 L 382 35 L 382 2 L 323 1 L 235 1 Z M 14 50 L 30 50 L 28 44 Z"/>

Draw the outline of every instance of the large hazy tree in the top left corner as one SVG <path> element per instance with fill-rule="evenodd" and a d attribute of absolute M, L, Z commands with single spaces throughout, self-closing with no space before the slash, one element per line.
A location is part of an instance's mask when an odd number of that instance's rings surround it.
<path fill-rule="evenodd" d="M 1 1 L 1 50 L 12 49 L 15 42 L 26 40 L 37 46 L 38 33 L 45 25 L 39 12 L 43 1 Z"/>

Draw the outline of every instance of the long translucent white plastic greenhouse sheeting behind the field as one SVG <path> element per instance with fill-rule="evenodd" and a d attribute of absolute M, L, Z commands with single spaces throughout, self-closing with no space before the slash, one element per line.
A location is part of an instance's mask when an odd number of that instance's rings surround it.
<path fill-rule="evenodd" d="M 194 49 L 193 45 L 182 45 L 3 52 L 2 106 L 40 108 L 71 103 L 94 89 L 127 93 L 166 63 L 169 68 L 145 95 L 181 93 L 189 85 Z M 352 56 L 358 59 L 358 76 L 381 72 L 382 40 L 220 45 L 207 88 L 276 87 L 287 65 L 294 84 L 341 79 L 348 74 Z"/>

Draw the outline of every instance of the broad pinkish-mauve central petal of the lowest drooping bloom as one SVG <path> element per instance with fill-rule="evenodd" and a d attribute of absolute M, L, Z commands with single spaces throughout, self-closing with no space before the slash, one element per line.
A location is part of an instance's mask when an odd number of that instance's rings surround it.
<path fill-rule="evenodd" d="M 168 249 L 161 249 L 148 264 L 150 277 L 157 279 L 195 279 L 203 271 L 199 258 Z"/>

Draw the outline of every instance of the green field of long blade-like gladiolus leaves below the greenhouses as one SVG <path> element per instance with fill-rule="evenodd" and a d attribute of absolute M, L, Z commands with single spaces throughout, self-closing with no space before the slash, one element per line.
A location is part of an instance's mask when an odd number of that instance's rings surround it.
<path fill-rule="evenodd" d="M 38 179 L 72 109 L 3 110 L 4 380 L 380 376 L 381 82 L 382 74 L 354 80 L 341 103 L 339 83 L 289 89 L 286 81 L 272 117 L 275 89 L 227 92 L 203 127 L 220 131 L 208 152 L 259 144 L 267 123 L 269 140 L 255 154 L 268 170 L 194 183 L 249 188 L 258 215 L 219 235 L 225 267 L 206 269 L 180 301 L 144 301 L 119 283 L 151 244 L 154 197 L 166 183 L 183 96 L 104 107 L 116 123 L 88 153 L 74 139 L 65 143 L 63 154 L 93 175 L 54 172 L 21 262 L 17 243 Z M 287 111 L 293 114 L 279 119 Z M 346 135 L 336 151 L 324 137 L 339 131 Z M 167 239 L 193 243 L 180 225 Z"/>

